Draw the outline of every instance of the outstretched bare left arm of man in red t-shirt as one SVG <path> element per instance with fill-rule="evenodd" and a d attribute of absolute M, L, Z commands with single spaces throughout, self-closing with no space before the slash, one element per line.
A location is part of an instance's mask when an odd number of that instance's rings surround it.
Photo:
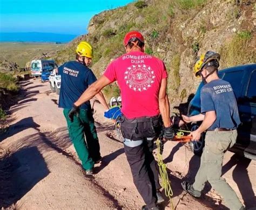
<path fill-rule="evenodd" d="M 94 97 L 99 91 L 103 89 L 106 85 L 110 84 L 110 80 L 107 79 L 104 75 L 101 76 L 95 83 L 92 83 L 86 91 L 80 96 L 80 98 L 74 103 L 75 106 L 80 106 L 86 101 Z M 105 99 L 105 98 L 104 98 Z M 100 102 L 101 103 L 101 102 Z M 103 102 L 104 103 L 104 102 Z M 104 106 L 104 105 L 103 105 Z"/>

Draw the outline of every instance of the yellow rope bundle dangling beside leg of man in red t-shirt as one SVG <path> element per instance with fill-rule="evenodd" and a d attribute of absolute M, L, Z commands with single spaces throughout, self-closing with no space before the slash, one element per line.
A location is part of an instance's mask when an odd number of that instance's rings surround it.
<path fill-rule="evenodd" d="M 171 182 L 168 177 L 166 165 L 164 164 L 164 161 L 163 161 L 163 156 L 160 154 L 160 139 L 159 138 L 157 139 L 156 143 L 157 143 L 157 160 L 158 160 L 158 166 L 159 166 L 159 173 L 160 173 L 161 180 L 162 180 L 161 187 L 164 188 L 165 195 L 166 195 L 166 197 L 168 197 L 170 199 L 172 209 L 174 209 L 172 198 L 171 198 L 173 195 Z"/>

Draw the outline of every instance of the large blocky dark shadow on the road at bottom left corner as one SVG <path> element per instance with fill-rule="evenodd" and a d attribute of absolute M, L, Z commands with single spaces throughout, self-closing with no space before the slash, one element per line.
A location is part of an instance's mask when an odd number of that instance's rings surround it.
<path fill-rule="evenodd" d="M 26 147 L 0 163 L 0 208 L 15 204 L 49 174 L 37 147 Z"/>

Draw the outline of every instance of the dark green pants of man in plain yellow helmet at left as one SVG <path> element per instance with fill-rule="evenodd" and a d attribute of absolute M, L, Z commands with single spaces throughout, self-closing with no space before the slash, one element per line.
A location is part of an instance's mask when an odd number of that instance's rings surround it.
<path fill-rule="evenodd" d="M 82 161 L 83 168 L 90 170 L 95 164 L 94 161 L 100 159 L 99 140 L 91 109 L 80 109 L 79 117 L 75 115 L 72 123 L 68 117 L 69 111 L 70 109 L 63 110 L 68 123 L 69 136 Z"/>

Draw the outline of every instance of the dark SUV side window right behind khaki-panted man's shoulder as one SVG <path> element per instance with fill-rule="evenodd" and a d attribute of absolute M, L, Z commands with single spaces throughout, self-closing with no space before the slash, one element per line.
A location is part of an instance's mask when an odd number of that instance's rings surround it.
<path fill-rule="evenodd" d="M 231 71 L 224 74 L 223 79 L 231 84 L 236 97 L 239 97 L 244 73 L 245 71 Z"/>

